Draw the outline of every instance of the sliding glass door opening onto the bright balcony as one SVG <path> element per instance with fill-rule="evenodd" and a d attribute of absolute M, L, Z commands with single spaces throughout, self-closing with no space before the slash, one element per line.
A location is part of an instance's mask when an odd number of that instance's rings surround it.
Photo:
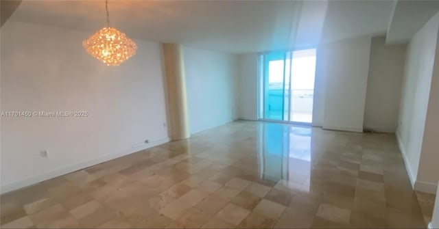
<path fill-rule="evenodd" d="M 316 49 L 260 55 L 261 119 L 312 122 Z"/>

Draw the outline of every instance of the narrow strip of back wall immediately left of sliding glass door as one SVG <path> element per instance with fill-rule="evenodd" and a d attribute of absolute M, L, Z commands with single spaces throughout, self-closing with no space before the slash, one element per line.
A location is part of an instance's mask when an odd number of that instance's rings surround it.
<path fill-rule="evenodd" d="M 258 55 L 248 53 L 238 56 L 239 118 L 258 119 Z"/>

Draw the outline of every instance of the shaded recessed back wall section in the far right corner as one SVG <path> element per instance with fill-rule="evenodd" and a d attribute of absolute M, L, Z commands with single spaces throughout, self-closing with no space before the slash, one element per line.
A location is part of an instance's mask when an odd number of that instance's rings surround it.
<path fill-rule="evenodd" d="M 385 45 L 385 37 L 372 38 L 364 128 L 395 133 L 398 125 L 405 44 Z"/>

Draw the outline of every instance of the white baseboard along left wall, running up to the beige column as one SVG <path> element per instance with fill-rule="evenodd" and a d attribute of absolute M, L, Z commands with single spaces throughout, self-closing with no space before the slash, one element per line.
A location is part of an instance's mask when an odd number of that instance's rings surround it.
<path fill-rule="evenodd" d="M 75 172 L 77 170 L 82 170 L 82 169 L 84 169 L 86 167 L 97 165 L 99 163 L 110 161 L 112 159 L 117 159 L 118 157 L 123 157 L 125 155 L 132 154 L 133 152 L 138 152 L 140 150 L 145 150 L 147 148 L 152 148 L 154 146 L 165 144 L 167 142 L 169 142 L 169 137 L 166 137 L 164 139 L 158 139 L 158 140 L 156 140 L 154 142 L 150 142 L 149 144 L 143 144 L 143 145 L 138 146 L 136 148 L 128 148 L 127 150 L 123 150 L 121 152 L 117 152 L 117 153 L 114 153 L 114 154 L 106 154 L 106 155 L 104 155 L 102 157 L 98 157 L 98 158 L 95 158 L 95 159 L 91 159 L 91 160 L 87 160 L 87 161 L 82 161 L 80 163 L 75 163 L 75 164 L 72 164 L 72 165 L 67 165 L 67 166 L 64 166 L 64 167 L 60 167 L 60 168 L 57 168 L 55 170 L 51 170 L 51 171 L 49 171 L 49 172 L 47 172 L 45 174 L 38 174 L 36 176 L 31 176 L 29 178 L 25 178 L 23 180 L 16 181 L 14 183 L 9 183 L 9 184 L 5 184 L 5 185 L 2 184 L 0 186 L 0 193 L 6 193 L 8 191 L 14 191 L 16 189 L 21 189 L 21 188 L 27 187 L 29 185 L 34 185 L 36 183 L 40 183 L 40 182 L 42 182 L 44 180 L 49 180 L 51 178 L 55 178 L 57 176 L 62 176 L 64 174 L 69 174 L 69 173 Z"/>

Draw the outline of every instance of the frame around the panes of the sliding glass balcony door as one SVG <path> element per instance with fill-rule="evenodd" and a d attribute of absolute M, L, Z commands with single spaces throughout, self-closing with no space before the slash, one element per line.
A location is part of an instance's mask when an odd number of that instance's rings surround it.
<path fill-rule="evenodd" d="M 258 57 L 257 57 L 257 77 L 258 77 L 258 101 L 257 101 L 257 118 L 260 121 L 265 121 L 265 122 L 279 122 L 279 123 L 286 123 L 286 124 L 296 124 L 296 125 L 300 125 L 300 126 L 312 126 L 313 122 L 311 120 L 311 122 L 295 122 L 295 121 L 291 121 L 290 117 L 288 117 L 288 120 L 283 120 L 283 116 L 285 115 L 285 111 L 283 111 L 282 114 L 282 120 L 274 120 L 274 119 L 270 119 L 270 118 L 264 118 L 264 112 L 265 112 L 265 94 L 264 94 L 264 90 L 265 90 L 265 85 L 268 77 L 265 77 L 265 74 L 268 72 L 268 70 L 265 70 L 265 55 L 270 54 L 270 53 L 281 53 L 283 52 L 283 56 L 284 56 L 284 67 L 283 67 L 283 82 L 285 82 L 285 61 L 286 61 L 286 57 L 287 57 L 287 53 L 291 53 L 291 57 L 289 59 L 289 91 L 291 91 L 291 84 L 292 84 L 292 60 L 293 60 L 293 52 L 294 51 L 302 51 L 302 50 L 307 50 L 307 49 L 315 49 L 316 50 L 316 72 L 317 72 L 317 53 L 318 53 L 318 49 L 316 46 L 307 46 L 307 47 L 302 47 L 300 49 L 282 49 L 282 50 L 277 50 L 277 51 L 265 51 L 265 52 L 260 52 L 257 53 Z M 316 78 L 316 72 L 314 72 L 314 78 Z M 267 79 L 267 80 L 266 80 Z M 316 81 L 314 81 L 314 89 L 316 88 Z M 313 89 L 313 90 L 314 90 Z M 283 92 L 285 93 L 285 83 L 283 83 Z M 285 105 L 285 95 L 283 95 L 283 108 Z M 289 107 L 291 107 L 291 92 L 288 93 L 288 104 Z M 289 115 L 288 115 L 289 116 Z"/>

